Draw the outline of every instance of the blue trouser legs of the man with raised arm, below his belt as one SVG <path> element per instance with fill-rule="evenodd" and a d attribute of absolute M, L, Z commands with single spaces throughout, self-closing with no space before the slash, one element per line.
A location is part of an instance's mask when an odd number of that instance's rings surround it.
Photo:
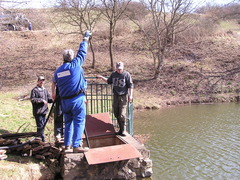
<path fill-rule="evenodd" d="M 82 93 L 74 98 L 62 100 L 62 111 L 65 121 L 64 145 L 77 148 L 82 143 L 85 128 L 86 105 Z"/>

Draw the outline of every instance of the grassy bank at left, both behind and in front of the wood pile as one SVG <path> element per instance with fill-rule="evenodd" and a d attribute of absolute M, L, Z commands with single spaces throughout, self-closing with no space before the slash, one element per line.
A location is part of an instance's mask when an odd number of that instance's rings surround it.
<path fill-rule="evenodd" d="M 32 104 L 26 90 L 0 93 L 0 134 L 36 132 L 36 123 L 32 115 Z M 23 96 L 24 95 L 24 96 Z M 49 105 L 50 106 L 50 105 Z M 45 129 L 47 141 L 53 142 L 52 117 Z M 22 138 L 21 141 L 28 140 Z M 54 179 L 56 167 L 54 163 L 46 165 L 44 161 L 33 157 L 21 157 L 19 154 L 7 153 L 7 159 L 1 161 L 1 180 L 9 179 Z M 57 161 L 54 161 L 57 162 Z"/>

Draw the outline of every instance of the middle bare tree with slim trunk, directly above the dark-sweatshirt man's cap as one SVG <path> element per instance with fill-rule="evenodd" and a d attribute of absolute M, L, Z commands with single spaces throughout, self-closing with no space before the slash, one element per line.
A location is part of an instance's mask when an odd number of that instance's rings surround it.
<path fill-rule="evenodd" d="M 118 20 L 125 12 L 129 2 L 131 0 L 101 0 L 102 2 L 102 13 L 109 23 L 109 55 L 111 61 L 111 69 L 114 69 L 113 63 L 113 39 L 115 35 L 115 29 Z"/>

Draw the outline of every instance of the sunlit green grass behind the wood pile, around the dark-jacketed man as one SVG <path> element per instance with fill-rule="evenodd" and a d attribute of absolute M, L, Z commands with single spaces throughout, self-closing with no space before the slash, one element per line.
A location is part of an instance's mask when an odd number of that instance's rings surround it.
<path fill-rule="evenodd" d="M 17 97 L 18 95 L 15 92 L 0 94 L 0 134 L 36 131 L 31 102 L 29 100 L 19 101 Z M 46 126 L 45 134 L 51 140 L 50 137 L 53 134 L 53 123 L 51 121 Z"/>

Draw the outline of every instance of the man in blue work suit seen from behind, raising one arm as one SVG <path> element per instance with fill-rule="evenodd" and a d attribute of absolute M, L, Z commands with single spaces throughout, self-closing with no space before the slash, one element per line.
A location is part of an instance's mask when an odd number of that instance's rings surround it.
<path fill-rule="evenodd" d="M 69 150 L 72 145 L 74 153 L 88 151 L 87 148 L 82 147 L 82 135 L 85 128 L 86 116 L 86 97 L 84 91 L 87 88 L 82 65 L 87 55 L 88 40 L 90 37 L 91 32 L 87 31 L 84 34 L 83 41 L 80 43 L 75 58 L 73 50 L 68 49 L 64 51 L 64 63 L 54 73 L 52 84 L 53 99 L 56 97 L 56 85 L 61 97 L 65 121 L 65 149 Z"/>

